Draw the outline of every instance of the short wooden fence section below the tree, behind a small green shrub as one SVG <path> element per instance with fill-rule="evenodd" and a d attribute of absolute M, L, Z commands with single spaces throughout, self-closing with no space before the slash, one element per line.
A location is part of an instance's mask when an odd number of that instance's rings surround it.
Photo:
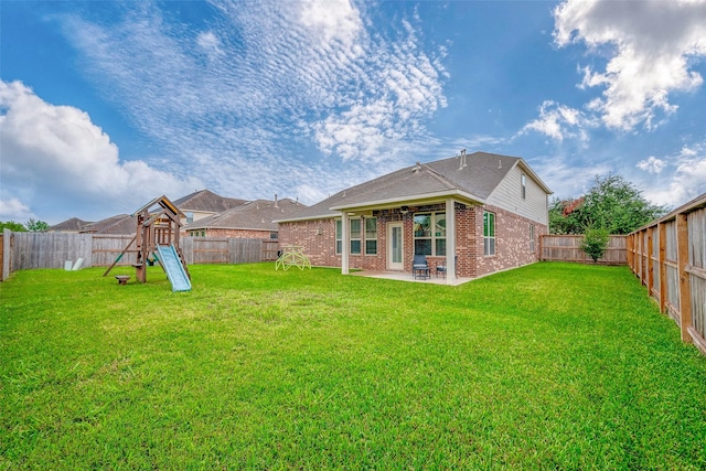
<path fill-rule="evenodd" d="M 628 264 L 628 236 L 611 235 L 608 239 L 606 255 L 599 258 L 599 265 L 627 265 Z M 577 261 L 592 264 L 593 259 L 581 250 L 582 235 L 555 235 L 545 234 L 539 237 L 542 260 L 546 261 Z"/>

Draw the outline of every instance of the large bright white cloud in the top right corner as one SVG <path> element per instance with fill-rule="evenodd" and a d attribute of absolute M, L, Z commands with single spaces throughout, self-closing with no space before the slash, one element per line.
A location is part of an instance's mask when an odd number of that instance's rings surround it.
<path fill-rule="evenodd" d="M 554 14 L 557 45 L 609 57 L 603 71 L 584 67 L 581 87 L 606 87 L 589 109 L 610 128 L 652 129 L 677 109 L 670 94 L 703 83 L 691 67 L 706 56 L 705 0 L 567 0 Z"/>

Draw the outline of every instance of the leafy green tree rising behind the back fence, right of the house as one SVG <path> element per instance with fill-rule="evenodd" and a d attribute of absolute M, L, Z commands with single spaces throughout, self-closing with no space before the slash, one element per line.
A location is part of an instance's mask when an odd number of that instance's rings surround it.
<path fill-rule="evenodd" d="M 596 176 L 584 196 L 554 201 L 549 210 L 549 232 L 584 234 L 593 226 L 609 234 L 630 234 L 668 210 L 646 201 L 640 190 L 620 175 Z"/>

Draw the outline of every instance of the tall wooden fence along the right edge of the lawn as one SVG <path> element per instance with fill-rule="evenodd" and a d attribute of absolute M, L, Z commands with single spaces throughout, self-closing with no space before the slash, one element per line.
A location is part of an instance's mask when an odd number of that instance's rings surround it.
<path fill-rule="evenodd" d="M 628 265 L 706 355 L 706 193 L 630 234 Z"/>

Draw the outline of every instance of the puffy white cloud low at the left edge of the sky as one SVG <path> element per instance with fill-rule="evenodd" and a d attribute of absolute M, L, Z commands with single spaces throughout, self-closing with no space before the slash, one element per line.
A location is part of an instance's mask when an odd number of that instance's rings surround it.
<path fill-rule="evenodd" d="M 90 201 L 125 212 L 126 205 L 202 186 L 141 161 L 121 162 L 118 148 L 85 111 L 47 104 L 20 82 L 0 81 L 0 110 L 1 196 L 8 201 L 21 192 L 23 201 L 11 208 L 26 211 L 41 201 L 71 214 L 72 201 Z"/>

